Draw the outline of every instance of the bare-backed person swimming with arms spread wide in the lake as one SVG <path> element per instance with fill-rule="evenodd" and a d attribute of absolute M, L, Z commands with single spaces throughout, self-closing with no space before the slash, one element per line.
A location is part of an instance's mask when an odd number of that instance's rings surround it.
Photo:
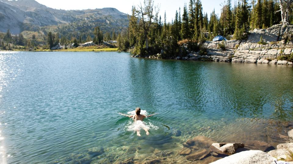
<path fill-rule="evenodd" d="M 143 114 L 140 114 L 140 108 L 139 107 L 137 107 L 135 109 L 135 113 L 136 113 L 135 115 L 127 115 L 127 114 L 122 114 L 122 113 L 119 113 L 119 114 L 121 114 L 123 116 L 126 116 L 126 117 L 133 118 L 133 120 L 135 122 L 134 123 L 135 124 L 135 131 L 136 131 L 136 134 L 138 136 L 141 136 L 140 135 L 140 129 L 141 128 L 143 128 L 143 130 L 146 131 L 146 134 L 149 135 L 150 134 L 149 133 L 149 127 L 147 127 L 146 125 L 144 125 L 142 121 L 143 121 L 144 118 L 151 117 L 151 116 L 153 116 L 155 114 L 151 114 L 151 115 L 148 115 L 148 116 L 145 116 Z M 156 113 L 156 114 L 158 114 L 158 113 Z"/>

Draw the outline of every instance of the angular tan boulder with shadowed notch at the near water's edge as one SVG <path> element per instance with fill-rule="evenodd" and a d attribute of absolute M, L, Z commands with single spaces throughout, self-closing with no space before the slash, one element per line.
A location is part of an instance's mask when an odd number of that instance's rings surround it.
<path fill-rule="evenodd" d="M 213 143 L 209 148 L 210 151 L 219 154 L 232 155 L 238 148 L 244 148 L 243 143 Z"/>

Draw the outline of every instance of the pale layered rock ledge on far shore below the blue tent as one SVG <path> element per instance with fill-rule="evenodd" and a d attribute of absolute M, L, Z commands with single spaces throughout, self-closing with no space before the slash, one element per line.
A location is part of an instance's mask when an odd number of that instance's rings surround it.
<path fill-rule="evenodd" d="M 259 43 L 260 37 L 263 41 Z M 225 45 L 225 50 L 219 44 Z M 206 41 L 203 44 L 206 54 L 190 52 L 185 57 L 177 56 L 176 60 L 209 60 L 216 62 L 234 63 L 269 63 L 279 65 L 293 65 L 291 61 L 279 60 L 279 56 L 293 54 L 293 25 L 274 25 L 268 29 L 249 31 L 247 40 L 227 40 L 222 42 Z M 154 56 L 133 56 L 160 58 Z"/>

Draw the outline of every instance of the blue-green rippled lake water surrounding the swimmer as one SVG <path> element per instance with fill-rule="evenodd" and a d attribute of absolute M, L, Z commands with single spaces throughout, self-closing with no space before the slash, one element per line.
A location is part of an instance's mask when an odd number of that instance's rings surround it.
<path fill-rule="evenodd" d="M 183 161 L 182 143 L 197 135 L 275 146 L 292 106 L 292 66 L 0 52 L 2 163 L 143 162 L 161 151 Z M 148 136 L 117 114 L 136 107 L 159 113 L 144 120 Z"/>

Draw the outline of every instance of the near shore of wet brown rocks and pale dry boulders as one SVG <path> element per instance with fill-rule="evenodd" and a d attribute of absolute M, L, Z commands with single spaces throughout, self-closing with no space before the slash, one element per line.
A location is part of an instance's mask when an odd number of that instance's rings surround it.
<path fill-rule="evenodd" d="M 253 141 L 251 143 L 215 143 L 210 138 L 197 136 L 183 143 L 183 149 L 179 155 L 186 157 L 188 161 L 202 161 L 203 163 L 212 162 L 212 164 L 239 164 L 239 163 L 263 163 L 271 164 L 274 161 L 292 161 L 293 156 L 293 129 L 285 136 L 287 142 L 277 145 L 277 149 L 262 141 Z M 261 149 L 261 150 L 258 150 Z M 205 160 L 208 159 L 208 160 Z"/>

